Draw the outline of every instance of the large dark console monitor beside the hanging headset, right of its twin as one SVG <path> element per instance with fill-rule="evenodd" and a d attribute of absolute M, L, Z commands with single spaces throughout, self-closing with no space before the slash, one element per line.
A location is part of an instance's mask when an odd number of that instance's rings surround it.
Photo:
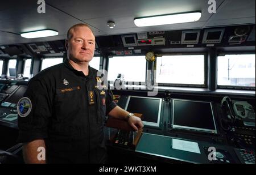
<path fill-rule="evenodd" d="M 212 103 L 172 99 L 172 127 L 217 134 Z"/>

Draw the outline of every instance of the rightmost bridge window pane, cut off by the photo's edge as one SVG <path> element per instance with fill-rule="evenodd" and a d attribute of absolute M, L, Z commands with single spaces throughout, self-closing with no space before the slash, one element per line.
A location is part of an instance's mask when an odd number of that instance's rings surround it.
<path fill-rule="evenodd" d="M 218 56 L 218 86 L 255 87 L 255 54 Z"/>

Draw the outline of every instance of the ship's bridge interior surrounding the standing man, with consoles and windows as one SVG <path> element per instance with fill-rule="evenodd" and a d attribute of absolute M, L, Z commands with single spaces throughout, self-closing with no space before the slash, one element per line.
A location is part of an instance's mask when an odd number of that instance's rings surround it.
<path fill-rule="evenodd" d="M 135 24 L 187 12 L 200 18 Z M 144 125 L 137 132 L 105 117 L 109 163 L 255 164 L 254 0 L 1 2 L 0 163 L 24 163 L 18 101 L 32 77 L 67 59 L 77 23 L 96 37 L 89 65 Z M 21 36 L 44 29 L 58 35 Z"/>

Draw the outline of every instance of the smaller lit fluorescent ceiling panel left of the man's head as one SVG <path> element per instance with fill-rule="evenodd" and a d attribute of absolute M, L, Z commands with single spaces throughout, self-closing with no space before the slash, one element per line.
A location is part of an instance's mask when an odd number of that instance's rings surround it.
<path fill-rule="evenodd" d="M 42 30 L 42 31 L 34 31 L 34 32 L 26 32 L 21 33 L 20 36 L 26 38 L 26 39 L 35 39 L 40 37 L 47 37 L 47 36 L 56 36 L 59 32 L 53 31 L 53 30 Z"/>

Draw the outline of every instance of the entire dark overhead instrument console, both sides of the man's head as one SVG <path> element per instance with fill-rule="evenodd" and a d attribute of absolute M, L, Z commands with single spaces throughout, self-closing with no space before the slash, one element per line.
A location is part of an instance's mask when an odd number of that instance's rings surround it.
<path fill-rule="evenodd" d="M 185 29 L 179 31 L 147 31 L 112 36 L 96 36 L 96 54 L 108 52 L 137 54 L 138 50 L 164 48 L 208 48 L 255 46 L 255 25 L 221 28 Z M 130 52 L 127 52 L 130 50 Z M 32 42 L 21 45 L 0 45 L 0 56 L 28 54 L 63 54 L 65 41 Z"/>

